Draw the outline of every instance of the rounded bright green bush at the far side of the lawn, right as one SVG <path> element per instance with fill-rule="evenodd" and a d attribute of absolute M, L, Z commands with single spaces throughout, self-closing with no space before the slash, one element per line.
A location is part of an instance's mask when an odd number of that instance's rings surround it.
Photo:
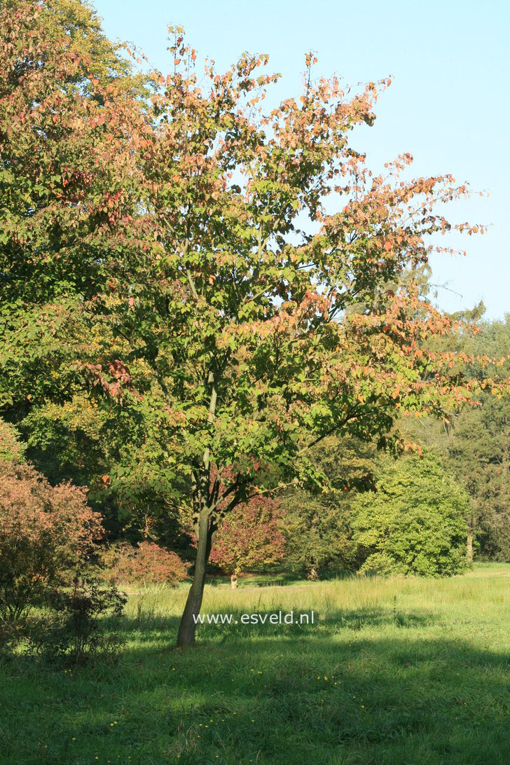
<path fill-rule="evenodd" d="M 376 488 L 352 505 L 363 572 L 442 576 L 466 568 L 469 499 L 434 455 L 384 463 Z"/>

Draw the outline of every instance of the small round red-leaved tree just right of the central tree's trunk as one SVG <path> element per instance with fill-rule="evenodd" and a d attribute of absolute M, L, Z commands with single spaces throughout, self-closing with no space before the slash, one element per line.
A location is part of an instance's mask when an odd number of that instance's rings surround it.
<path fill-rule="evenodd" d="M 277 502 L 267 496 L 254 496 L 219 524 L 210 562 L 230 575 L 232 588 L 242 571 L 272 565 L 281 559 L 285 546 L 282 518 Z"/>

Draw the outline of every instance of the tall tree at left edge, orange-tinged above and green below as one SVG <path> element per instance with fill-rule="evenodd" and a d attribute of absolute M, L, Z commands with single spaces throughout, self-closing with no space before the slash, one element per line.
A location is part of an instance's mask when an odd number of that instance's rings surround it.
<path fill-rule="evenodd" d="M 145 239 L 132 213 L 148 80 L 80 0 L 6 0 L 0 51 L 0 410 L 50 483 L 87 484 L 112 527 L 122 496 L 108 476 L 142 438 L 90 395 L 92 374 L 118 398 L 128 379 L 125 349 L 84 308 L 112 292 L 127 238 Z M 138 478 L 126 488 L 161 504 Z"/>

